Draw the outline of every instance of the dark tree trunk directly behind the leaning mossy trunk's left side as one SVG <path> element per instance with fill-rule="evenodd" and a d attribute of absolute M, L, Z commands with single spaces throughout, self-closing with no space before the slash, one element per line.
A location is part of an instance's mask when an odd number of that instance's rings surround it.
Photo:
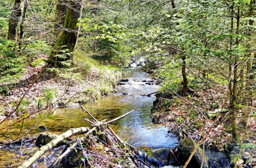
<path fill-rule="evenodd" d="M 55 25 L 54 34 L 58 36 L 63 30 L 65 24 L 65 18 L 67 14 L 67 2 L 65 0 L 58 0 L 56 2 L 56 15 L 55 15 Z"/>

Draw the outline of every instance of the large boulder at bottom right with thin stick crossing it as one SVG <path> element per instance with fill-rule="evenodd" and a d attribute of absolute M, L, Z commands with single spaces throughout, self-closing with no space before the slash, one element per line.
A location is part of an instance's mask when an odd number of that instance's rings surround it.
<path fill-rule="evenodd" d="M 193 138 L 187 137 L 182 141 L 181 145 L 182 147 L 181 147 L 179 157 L 182 161 L 186 162 L 191 152 L 197 145 L 197 143 L 194 141 Z M 200 147 L 198 147 L 196 150 L 196 153 L 190 160 L 189 165 L 193 167 L 200 167 L 201 164 L 203 163 L 203 167 L 208 168 L 209 158 L 205 154 L 204 154 L 204 157 L 202 158 L 202 153 L 203 153 L 203 150 Z"/>

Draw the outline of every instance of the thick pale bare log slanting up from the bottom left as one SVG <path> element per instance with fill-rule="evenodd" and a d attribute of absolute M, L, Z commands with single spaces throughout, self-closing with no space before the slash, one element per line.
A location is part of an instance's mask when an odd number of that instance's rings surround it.
<path fill-rule="evenodd" d="M 80 128 L 72 128 L 68 131 L 60 134 L 55 139 L 53 139 L 51 142 L 46 144 L 45 146 L 42 146 L 39 151 L 37 151 L 31 158 L 26 160 L 22 165 L 19 166 L 19 168 L 29 167 L 32 165 L 37 159 L 39 159 L 42 155 L 44 155 L 47 151 L 61 143 L 64 139 L 69 138 L 70 136 L 74 134 L 81 134 L 86 132 L 91 132 L 92 130 L 89 130 L 87 127 L 80 127 Z"/>

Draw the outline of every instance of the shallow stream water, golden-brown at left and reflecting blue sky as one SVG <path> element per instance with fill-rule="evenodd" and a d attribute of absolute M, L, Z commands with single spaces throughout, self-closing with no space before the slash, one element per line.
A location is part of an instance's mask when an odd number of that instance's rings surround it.
<path fill-rule="evenodd" d="M 123 78 L 129 79 L 129 81 L 123 82 L 125 85 L 117 86 L 117 93 L 101 98 L 97 103 L 83 105 L 84 108 L 98 120 L 111 120 L 134 110 L 130 115 L 111 124 L 111 127 L 122 139 L 130 142 L 133 146 L 143 146 L 154 150 L 175 147 L 178 140 L 173 135 L 168 134 L 168 128 L 153 124 L 151 121 L 150 111 L 155 97 L 142 96 L 158 91 L 159 86 L 147 85 L 145 81 L 142 82 L 142 80 L 152 80 L 148 74 L 143 72 L 132 72 L 124 75 Z M 40 114 L 38 117 L 26 120 L 24 132 L 44 116 L 45 114 Z M 41 125 L 46 126 L 47 131 L 53 133 L 62 133 L 74 127 L 90 127 L 90 123 L 84 118 L 90 119 L 80 108 L 59 108 L 33 128 L 27 136 L 40 133 L 41 130 L 37 127 Z M 0 140 L 15 138 L 21 125 L 16 124 L 1 131 Z M 37 148 L 30 146 L 20 149 L 16 147 L 0 149 L 0 166 L 20 164 L 23 159 L 32 156 L 35 150 Z M 14 156 L 15 158 L 11 159 Z M 52 157 L 57 156 L 58 152 L 52 155 Z"/>

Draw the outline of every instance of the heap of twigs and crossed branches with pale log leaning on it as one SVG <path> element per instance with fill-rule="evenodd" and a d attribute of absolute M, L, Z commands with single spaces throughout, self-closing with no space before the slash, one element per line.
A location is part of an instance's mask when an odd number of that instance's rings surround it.
<path fill-rule="evenodd" d="M 98 121 L 86 109 L 84 109 L 82 106 L 81 108 L 93 119 L 93 121 L 85 119 L 92 124 L 92 129 L 88 129 L 87 127 L 73 128 L 65 133 L 60 134 L 47 145 L 42 146 L 39 151 L 34 154 L 34 156 L 25 161 L 19 167 L 31 166 L 37 159 L 39 159 L 42 155 L 44 155 L 47 151 L 49 151 L 56 145 L 60 144 L 64 139 L 67 139 L 75 134 L 84 133 L 85 134 L 83 135 L 83 137 L 77 138 L 76 142 L 70 148 L 68 148 L 67 151 L 63 152 L 61 156 L 59 156 L 59 158 L 57 158 L 57 160 L 50 167 L 58 167 L 60 162 L 65 160 L 65 158 L 67 158 L 67 155 L 69 155 L 71 151 L 75 148 L 77 150 L 80 150 L 80 154 L 77 155 L 77 158 L 83 158 L 81 160 L 83 160 L 84 166 L 88 167 L 92 167 L 93 165 L 103 165 L 102 163 L 104 161 L 111 164 L 113 167 L 120 166 L 118 161 L 116 161 L 118 159 L 125 160 L 124 164 L 127 164 L 127 166 L 139 167 L 141 163 L 144 165 L 147 164 L 140 160 L 138 156 L 136 156 L 136 152 L 133 147 L 123 142 L 122 139 L 109 127 L 110 123 L 113 123 L 131 114 L 133 110 L 108 122 L 106 120 Z M 104 149 L 97 149 L 97 147 L 99 146 L 103 146 Z M 112 154 L 102 154 L 104 153 L 104 150 L 108 151 L 108 149 L 110 149 L 109 151 L 111 151 L 109 153 Z M 114 162 L 112 160 L 114 160 Z"/>

